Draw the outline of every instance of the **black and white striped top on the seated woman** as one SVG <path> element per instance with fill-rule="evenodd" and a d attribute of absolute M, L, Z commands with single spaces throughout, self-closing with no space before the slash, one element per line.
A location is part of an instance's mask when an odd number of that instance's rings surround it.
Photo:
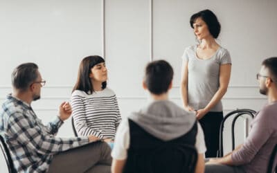
<path fill-rule="evenodd" d="M 87 94 L 75 90 L 71 95 L 71 106 L 78 136 L 114 139 L 121 120 L 114 91 L 106 88 Z"/>

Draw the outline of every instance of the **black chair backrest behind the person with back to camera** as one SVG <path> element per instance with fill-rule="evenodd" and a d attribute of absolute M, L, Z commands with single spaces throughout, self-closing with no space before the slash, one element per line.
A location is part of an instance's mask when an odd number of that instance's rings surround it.
<path fill-rule="evenodd" d="M 163 145 L 150 153 L 150 173 L 193 173 L 197 164 L 197 150 L 185 144 Z"/>

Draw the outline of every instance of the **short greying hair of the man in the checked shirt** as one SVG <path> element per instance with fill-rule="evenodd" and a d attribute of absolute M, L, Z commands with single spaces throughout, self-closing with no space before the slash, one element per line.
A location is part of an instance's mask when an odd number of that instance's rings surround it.
<path fill-rule="evenodd" d="M 20 64 L 12 72 L 12 86 L 20 91 L 26 91 L 30 84 L 38 78 L 38 66 L 33 62 Z"/>

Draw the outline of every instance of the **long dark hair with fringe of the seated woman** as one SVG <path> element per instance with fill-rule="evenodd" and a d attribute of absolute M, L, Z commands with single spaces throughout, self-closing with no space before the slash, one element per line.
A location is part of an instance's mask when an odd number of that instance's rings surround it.
<path fill-rule="evenodd" d="M 72 92 L 80 90 L 86 92 L 87 94 L 93 93 L 94 90 L 89 74 L 91 73 L 91 68 L 93 68 L 93 66 L 102 62 L 105 62 L 105 60 L 98 55 L 84 57 L 80 63 L 77 82 L 73 87 Z M 107 82 L 102 82 L 102 89 L 105 89 L 106 86 Z"/>

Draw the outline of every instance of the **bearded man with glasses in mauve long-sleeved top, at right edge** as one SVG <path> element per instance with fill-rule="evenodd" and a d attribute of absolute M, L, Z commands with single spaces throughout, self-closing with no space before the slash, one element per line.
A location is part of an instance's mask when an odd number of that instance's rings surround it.
<path fill-rule="evenodd" d="M 277 143 L 277 57 L 262 62 L 257 74 L 260 93 L 267 95 L 268 104 L 251 122 L 247 140 L 222 158 L 211 158 L 205 172 L 267 172 L 267 166 Z"/>

